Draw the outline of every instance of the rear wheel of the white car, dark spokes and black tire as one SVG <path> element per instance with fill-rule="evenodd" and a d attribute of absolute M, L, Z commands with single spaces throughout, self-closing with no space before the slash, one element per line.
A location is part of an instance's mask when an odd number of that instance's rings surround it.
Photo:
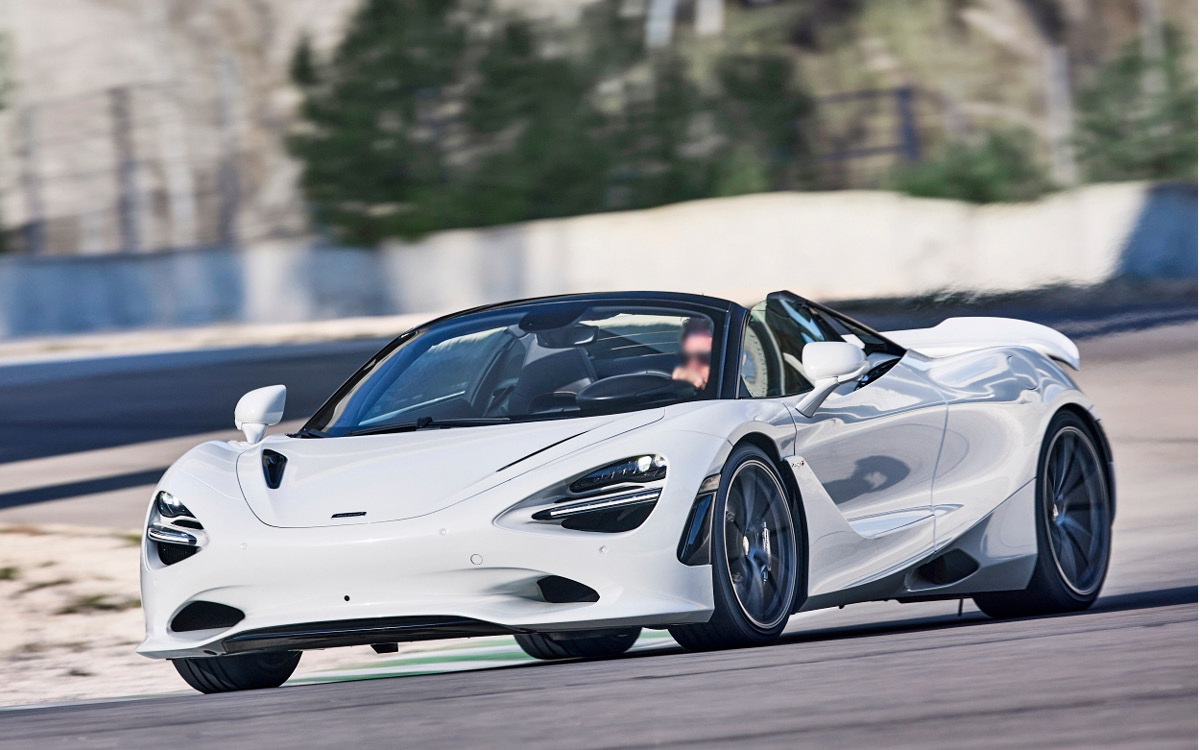
<path fill-rule="evenodd" d="M 1104 454 L 1078 415 L 1060 412 L 1038 454 L 1038 559 L 1019 592 L 974 596 L 989 617 L 1033 617 L 1092 606 L 1112 548 L 1112 503 Z"/>

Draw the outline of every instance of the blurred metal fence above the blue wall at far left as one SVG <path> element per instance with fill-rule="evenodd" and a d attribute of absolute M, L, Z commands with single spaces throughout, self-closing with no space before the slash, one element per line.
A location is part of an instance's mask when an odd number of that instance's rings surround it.
<path fill-rule="evenodd" d="M 236 240 L 241 149 L 230 97 L 122 85 L 24 103 L 13 115 L 8 251 L 143 252 Z"/>

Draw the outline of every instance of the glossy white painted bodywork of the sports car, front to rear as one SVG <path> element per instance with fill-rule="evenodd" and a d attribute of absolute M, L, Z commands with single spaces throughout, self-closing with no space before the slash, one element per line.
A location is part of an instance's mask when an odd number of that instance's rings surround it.
<path fill-rule="evenodd" d="M 172 565 L 144 541 L 148 635 L 138 650 L 221 654 L 226 638 L 246 631 L 362 618 L 448 616 L 540 631 L 706 622 L 712 566 L 684 564 L 677 550 L 702 482 L 748 439 L 775 454 L 799 493 L 799 608 L 1022 588 L 1037 554 L 1032 480 L 1045 426 L 1063 406 L 1091 410 L 1037 350 L 1050 344 L 1027 344 L 910 352 L 864 388 L 840 388 L 812 416 L 798 413 L 797 398 L 716 400 L 604 418 L 206 443 L 158 485 L 204 529 L 194 532 L 200 551 Z M 288 457 L 278 488 L 265 485 L 264 450 Z M 593 533 L 530 517 L 547 487 L 643 454 L 664 456 L 668 473 L 640 527 Z M 331 517 L 343 511 L 365 515 Z M 151 505 L 148 523 L 154 514 Z M 979 570 L 948 586 L 923 580 L 919 566 L 947 550 L 972 556 Z M 545 576 L 581 582 L 599 600 L 551 604 L 536 584 Z M 245 619 L 172 630 L 199 600 L 238 607 Z"/>

